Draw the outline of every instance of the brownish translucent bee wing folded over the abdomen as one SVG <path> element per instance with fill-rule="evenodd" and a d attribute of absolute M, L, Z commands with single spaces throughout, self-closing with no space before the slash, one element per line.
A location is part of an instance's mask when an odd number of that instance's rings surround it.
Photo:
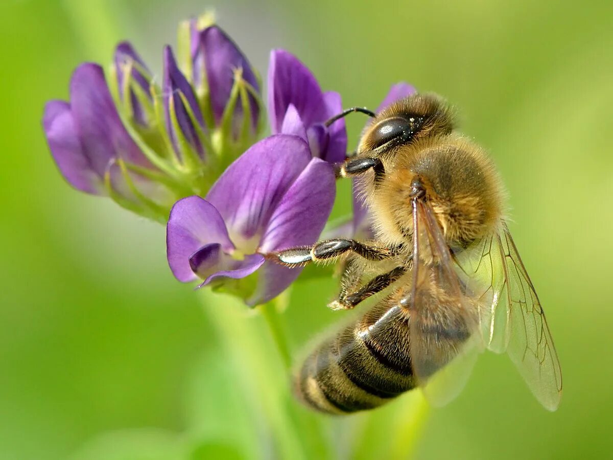
<path fill-rule="evenodd" d="M 483 349 L 479 314 L 427 202 L 413 203 L 413 225 L 413 282 L 403 301 L 411 365 L 428 400 L 442 405 L 460 393 Z"/>

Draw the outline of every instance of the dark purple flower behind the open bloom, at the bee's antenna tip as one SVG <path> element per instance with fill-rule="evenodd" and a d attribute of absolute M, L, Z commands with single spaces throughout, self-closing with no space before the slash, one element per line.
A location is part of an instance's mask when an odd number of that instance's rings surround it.
<path fill-rule="evenodd" d="M 268 117 L 273 134 L 307 140 L 311 153 L 330 163 L 345 159 L 345 120 L 324 123 L 343 111 L 340 94 L 323 93 L 307 66 L 284 50 L 273 50 L 268 67 Z"/>

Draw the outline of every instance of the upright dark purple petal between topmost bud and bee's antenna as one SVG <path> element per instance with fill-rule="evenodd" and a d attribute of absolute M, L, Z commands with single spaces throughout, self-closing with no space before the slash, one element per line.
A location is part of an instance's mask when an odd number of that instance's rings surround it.
<path fill-rule="evenodd" d="M 268 67 L 268 116 L 273 133 L 281 132 L 289 104 L 294 104 L 307 128 L 327 119 L 324 95 L 311 71 L 291 53 L 273 50 Z"/>

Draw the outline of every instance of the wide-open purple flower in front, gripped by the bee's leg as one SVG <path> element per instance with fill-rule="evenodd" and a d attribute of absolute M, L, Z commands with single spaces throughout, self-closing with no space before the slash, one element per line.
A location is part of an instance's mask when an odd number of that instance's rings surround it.
<path fill-rule="evenodd" d="M 267 137 L 232 163 L 206 199 L 178 201 L 167 225 L 167 256 L 181 282 L 232 285 L 258 270 L 238 293 L 267 302 L 299 275 L 267 253 L 316 241 L 335 196 L 332 168 L 297 136 Z"/>

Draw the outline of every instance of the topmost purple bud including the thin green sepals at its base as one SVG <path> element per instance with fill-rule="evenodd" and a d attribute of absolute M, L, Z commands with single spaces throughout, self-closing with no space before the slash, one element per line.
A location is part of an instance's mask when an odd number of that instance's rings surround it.
<path fill-rule="evenodd" d="M 226 108 L 232 104 L 234 109 L 230 107 L 230 110 L 234 112 L 230 115 L 233 118 L 234 135 L 238 137 L 245 107 L 240 93 L 237 92 L 232 100 L 232 90 L 235 85 L 246 83 L 250 88 L 245 86 L 243 89 L 251 113 L 251 129 L 255 132 L 260 113 L 255 97 L 260 92 L 256 72 L 240 48 L 221 28 L 209 26 L 197 29 L 195 21 L 192 24 L 192 82 L 199 96 L 208 96 L 215 126 L 221 125 Z"/>

